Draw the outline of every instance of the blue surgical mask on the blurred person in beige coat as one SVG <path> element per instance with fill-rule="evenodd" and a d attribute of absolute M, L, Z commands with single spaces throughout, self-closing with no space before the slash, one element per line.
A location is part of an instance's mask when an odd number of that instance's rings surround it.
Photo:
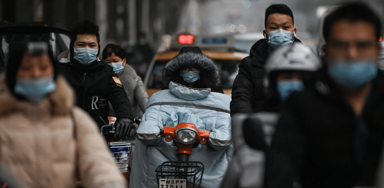
<path fill-rule="evenodd" d="M 46 95 L 56 90 L 53 76 L 43 78 L 16 78 L 15 93 L 29 101 L 38 103 Z"/>

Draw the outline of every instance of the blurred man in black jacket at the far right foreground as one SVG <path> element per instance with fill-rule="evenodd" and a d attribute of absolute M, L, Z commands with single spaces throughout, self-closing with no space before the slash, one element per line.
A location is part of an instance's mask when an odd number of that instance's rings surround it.
<path fill-rule="evenodd" d="M 378 75 L 381 21 L 364 3 L 324 18 L 324 79 L 292 93 L 267 157 L 265 185 L 372 186 L 384 137 L 384 88 Z"/>

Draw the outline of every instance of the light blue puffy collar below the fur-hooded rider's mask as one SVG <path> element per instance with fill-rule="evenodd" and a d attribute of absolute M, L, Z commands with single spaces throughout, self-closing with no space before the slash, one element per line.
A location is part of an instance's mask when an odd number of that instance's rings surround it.
<path fill-rule="evenodd" d="M 175 82 L 169 83 L 169 90 L 179 98 L 189 101 L 202 99 L 211 93 L 210 88 L 190 88 Z"/>

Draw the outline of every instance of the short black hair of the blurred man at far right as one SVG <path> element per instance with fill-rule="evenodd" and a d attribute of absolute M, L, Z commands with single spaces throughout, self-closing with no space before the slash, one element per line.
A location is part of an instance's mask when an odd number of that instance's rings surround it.
<path fill-rule="evenodd" d="M 365 3 L 351 2 L 344 3 L 341 7 L 336 8 L 325 16 L 323 24 L 323 37 L 325 42 L 329 39 L 332 25 L 339 20 L 348 20 L 352 22 L 366 21 L 371 23 L 375 27 L 377 41 L 380 38 L 381 21 L 379 16 L 377 16 L 376 13 L 374 13 L 374 11 Z"/>

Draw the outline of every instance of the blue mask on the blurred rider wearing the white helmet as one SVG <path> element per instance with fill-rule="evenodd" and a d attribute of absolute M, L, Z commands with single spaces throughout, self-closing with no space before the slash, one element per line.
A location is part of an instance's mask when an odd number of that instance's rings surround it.
<path fill-rule="evenodd" d="M 302 80 L 290 79 L 281 80 L 277 82 L 277 92 L 280 95 L 280 99 L 285 102 L 289 95 L 293 92 L 300 92 L 304 90 L 304 83 Z"/>

